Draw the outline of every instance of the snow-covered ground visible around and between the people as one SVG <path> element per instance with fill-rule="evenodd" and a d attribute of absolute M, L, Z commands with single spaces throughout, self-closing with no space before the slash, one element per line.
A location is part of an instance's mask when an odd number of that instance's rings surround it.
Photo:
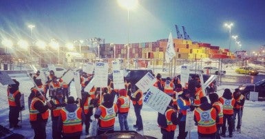
<path fill-rule="evenodd" d="M 34 131 L 30 128 L 30 122 L 29 122 L 29 111 L 28 111 L 28 95 L 30 94 L 30 88 L 33 87 L 32 81 L 30 81 L 30 78 L 26 76 L 25 74 L 12 74 L 10 75 L 12 78 L 16 78 L 17 81 L 20 82 L 19 89 L 22 93 L 25 94 L 25 110 L 22 111 L 22 122 L 19 122 L 19 124 L 22 125 L 22 129 L 11 129 L 14 133 L 21 133 L 26 138 L 33 138 Z M 72 83 L 74 85 L 74 83 Z M 237 87 L 237 85 L 220 85 L 218 87 L 218 94 L 222 96 L 222 93 L 224 92 L 225 88 L 231 89 L 233 92 L 234 89 Z M 0 125 L 8 127 L 8 98 L 7 98 L 7 85 L 0 85 Z M 74 86 L 71 86 L 71 96 L 74 96 L 76 98 L 76 94 Z M 162 138 L 162 135 L 160 133 L 160 128 L 157 125 L 157 111 L 154 111 L 150 107 L 144 104 L 141 115 L 144 125 L 144 131 L 143 134 L 147 136 L 153 136 L 156 138 Z M 233 138 L 265 138 L 265 101 L 258 101 L 253 102 L 246 100 L 245 107 L 244 107 L 244 114 L 242 118 L 242 133 L 234 133 Z M 136 116 L 134 114 L 134 108 L 131 105 L 129 116 L 129 127 L 131 130 L 134 130 L 132 125 L 136 122 Z M 85 129 L 85 126 L 83 127 Z M 116 118 L 115 122 L 115 130 L 119 130 L 119 124 L 118 124 L 118 118 Z M 85 132 L 85 131 L 83 131 Z M 47 138 L 52 138 L 52 122 L 51 118 L 49 118 L 47 123 Z M 228 133 L 226 133 L 228 134 Z M 175 138 L 178 136 L 178 128 L 175 132 Z M 194 129 L 188 134 L 187 138 L 198 138 L 197 134 L 197 127 L 194 127 Z M 81 138 L 85 138 L 85 134 Z"/>

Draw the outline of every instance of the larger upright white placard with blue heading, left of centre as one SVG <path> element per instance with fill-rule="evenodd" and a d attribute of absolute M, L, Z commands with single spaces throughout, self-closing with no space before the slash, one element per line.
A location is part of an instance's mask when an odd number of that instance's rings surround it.
<path fill-rule="evenodd" d="M 97 62 L 95 67 L 95 87 L 107 87 L 109 64 Z"/>

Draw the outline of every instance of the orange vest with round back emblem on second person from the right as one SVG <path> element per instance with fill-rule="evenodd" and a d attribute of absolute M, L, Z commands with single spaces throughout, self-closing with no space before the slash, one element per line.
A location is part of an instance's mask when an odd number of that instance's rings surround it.
<path fill-rule="evenodd" d="M 234 114 L 233 105 L 235 105 L 235 99 L 226 99 L 224 97 L 220 98 L 220 101 L 223 105 L 224 114 Z"/>

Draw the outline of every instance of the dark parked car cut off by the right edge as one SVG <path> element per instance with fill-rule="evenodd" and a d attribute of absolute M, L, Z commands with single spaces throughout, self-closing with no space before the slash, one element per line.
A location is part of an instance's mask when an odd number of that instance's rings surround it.
<path fill-rule="evenodd" d="M 261 81 L 258 81 L 255 84 L 244 84 L 239 85 L 238 89 L 240 89 L 240 92 L 244 94 L 247 100 L 249 100 L 250 92 L 258 92 L 259 99 L 262 97 L 265 97 L 265 79 L 262 79 Z"/>

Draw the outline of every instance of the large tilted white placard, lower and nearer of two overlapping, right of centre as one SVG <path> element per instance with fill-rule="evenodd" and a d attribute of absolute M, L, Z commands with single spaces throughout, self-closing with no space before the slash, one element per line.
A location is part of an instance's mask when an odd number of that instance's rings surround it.
<path fill-rule="evenodd" d="M 167 110 L 167 106 L 172 100 L 171 96 L 165 94 L 160 89 L 151 86 L 147 91 L 147 94 L 143 96 L 143 101 L 152 109 L 155 109 L 160 114 L 165 114 Z"/>

